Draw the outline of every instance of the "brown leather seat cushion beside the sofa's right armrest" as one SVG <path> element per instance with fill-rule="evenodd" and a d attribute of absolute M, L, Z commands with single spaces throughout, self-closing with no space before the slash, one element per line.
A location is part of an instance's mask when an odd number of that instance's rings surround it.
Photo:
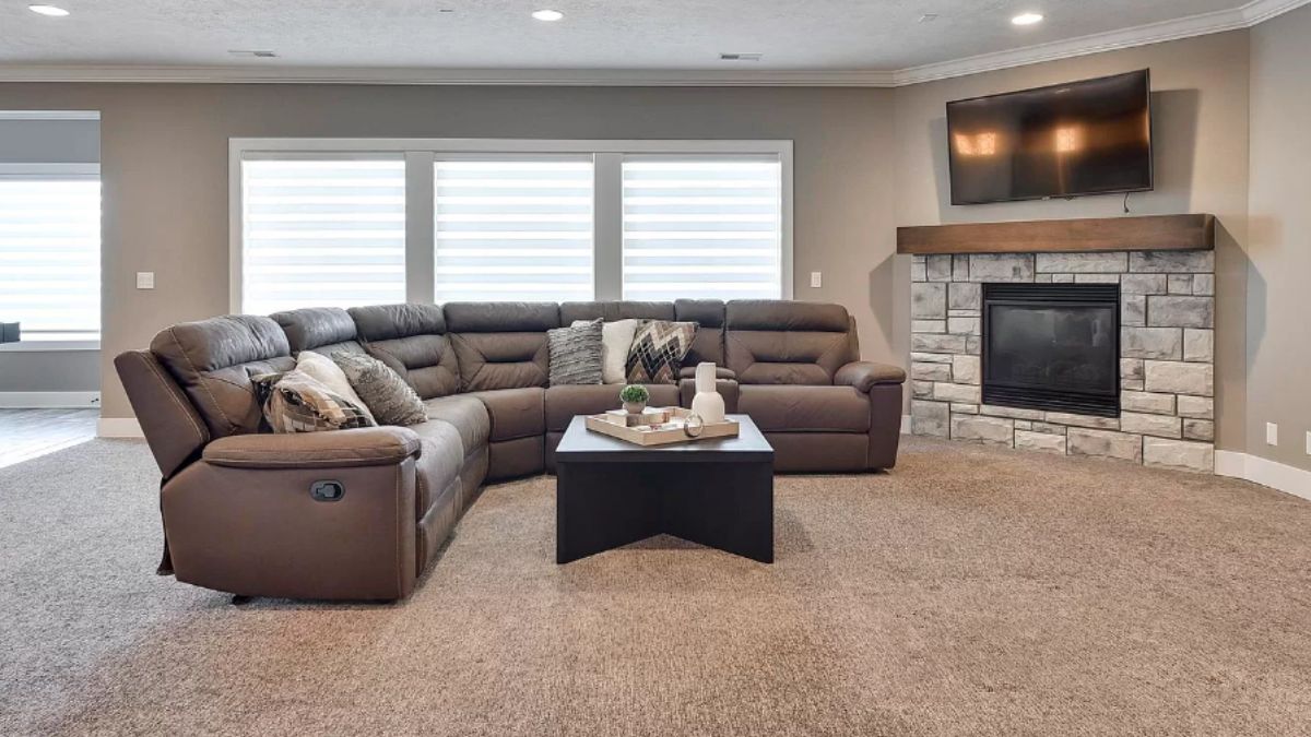
<path fill-rule="evenodd" d="M 760 430 L 869 430 L 869 396 L 853 387 L 739 386 L 738 412 Z"/>

